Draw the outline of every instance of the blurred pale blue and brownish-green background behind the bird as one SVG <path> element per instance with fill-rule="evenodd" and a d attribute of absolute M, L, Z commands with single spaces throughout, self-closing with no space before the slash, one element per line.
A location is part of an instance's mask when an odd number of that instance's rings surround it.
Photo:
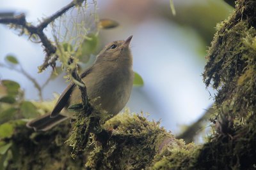
<path fill-rule="evenodd" d="M 36 25 L 38 19 L 68 3 L 70 0 L 0 1 L 0 12 L 25 13 L 27 21 Z M 88 1 L 90 4 L 93 1 Z M 161 120 L 163 127 L 179 134 L 182 125 L 195 122 L 213 103 L 210 93 L 214 95 L 214 90 L 205 89 L 201 74 L 216 23 L 227 18 L 233 8 L 223 0 L 174 0 L 174 6 L 175 16 L 168 0 L 97 1 L 98 17 L 119 23 L 114 29 L 99 32 L 97 52 L 110 41 L 133 35 L 134 71 L 142 76 L 144 85 L 134 87 L 127 108 L 149 113 L 150 119 Z M 6 55 L 15 55 L 42 85 L 51 75 L 51 67 L 38 73 L 37 67 L 44 62 L 43 48 L 40 43 L 28 41 L 28 36 L 18 34 L 0 25 L 0 62 Z M 47 35 L 51 37 L 51 27 L 47 28 Z M 33 83 L 17 71 L 0 67 L 0 79 L 19 82 L 27 99 L 39 99 Z M 58 76 L 43 90 L 44 99 L 51 100 L 53 92 L 61 93 L 66 86 L 63 76 Z"/>

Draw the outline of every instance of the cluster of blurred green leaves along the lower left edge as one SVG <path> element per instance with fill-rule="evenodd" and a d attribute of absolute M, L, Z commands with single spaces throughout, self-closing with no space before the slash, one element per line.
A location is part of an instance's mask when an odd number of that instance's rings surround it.
<path fill-rule="evenodd" d="M 18 64 L 15 57 L 6 57 L 12 64 Z M 12 141 L 15 127 L 26 124 L 28 118 L 40 115 L 31 101 L 24 99 L 19 83 L 12 80 L 0 81 L 0 169 L 4 169 L 16 150 Z"/>

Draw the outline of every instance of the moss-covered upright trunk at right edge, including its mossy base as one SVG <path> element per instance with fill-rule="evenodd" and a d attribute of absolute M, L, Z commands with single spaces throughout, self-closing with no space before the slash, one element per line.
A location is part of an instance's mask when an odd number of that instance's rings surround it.
<path fill-rule="evenodd" d="M 204 82 L 218 89 L 218 120 L 209 141 L 168 152 L 153 169 L 254 169 L 256 160 L 256 1 L 237 1 L 217 26 L 206 57 Z M 179 147 L 178 147 L 179 148 Z"/>

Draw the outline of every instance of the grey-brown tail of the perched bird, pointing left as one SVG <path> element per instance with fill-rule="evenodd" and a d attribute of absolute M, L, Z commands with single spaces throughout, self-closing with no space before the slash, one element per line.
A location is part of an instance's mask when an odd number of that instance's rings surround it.
<path fill-rule="evenodd" d="M 42 115 L 41 117 L 35 118 L 27 123 L 27 127 L 35 129 L 35 131 L 48 131 L 52 127 L 60 122 L 66 120 L 68 117 L 63 115 L 58 115 L 54 118 L 50 117 L 49 114 Z"/>

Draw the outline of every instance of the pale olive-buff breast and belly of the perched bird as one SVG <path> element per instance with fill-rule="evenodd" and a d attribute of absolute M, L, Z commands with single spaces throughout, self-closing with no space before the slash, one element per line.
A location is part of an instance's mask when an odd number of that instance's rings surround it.
<path fill-rule="evenodd" d="M 116 115 L 124 108 L 131 95 L 133 71 L 130 68 L 94 69 L 83 80 L 93 106 L 97 105 L 109 114 Z M 70 96 L 70 104 L 74 103 L 81 103 L 77 87 Z"/>

